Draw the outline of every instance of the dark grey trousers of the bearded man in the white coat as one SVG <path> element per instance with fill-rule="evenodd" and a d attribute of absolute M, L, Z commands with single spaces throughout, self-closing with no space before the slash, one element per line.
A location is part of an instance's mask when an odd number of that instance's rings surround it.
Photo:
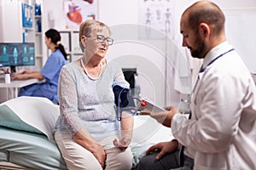
<path fill-rule="evenodd" d="M 148 156 L 143 156 L 137 165 L 137 170 L 192 170 L 194 167 L 194 160 L 189 156 L 184 156 L 183 167 L 179 163 L 179 150 L 163 156 L 160 160 L 155 160 L 155 156 L 159 151 L 152 152 Z"/>

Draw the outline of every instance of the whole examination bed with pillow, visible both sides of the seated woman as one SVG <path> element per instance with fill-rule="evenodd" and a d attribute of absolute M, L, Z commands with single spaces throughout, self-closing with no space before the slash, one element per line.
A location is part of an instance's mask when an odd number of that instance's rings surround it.
<path fill-rule="evenodd" d="M 0 104 L 0 169 L 67 169 L 53 138 L 59 106 L 49 99 L 20 97 Z M 152 144 L 172 139 L 171 129 L 135 116 L 133 167 Z"/>

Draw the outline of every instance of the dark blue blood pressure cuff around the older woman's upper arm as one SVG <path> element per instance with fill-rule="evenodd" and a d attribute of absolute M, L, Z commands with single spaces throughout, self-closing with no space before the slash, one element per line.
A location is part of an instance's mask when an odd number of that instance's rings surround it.
<path fill-rule="evenodd" d="M 133 100 L 133 95 L 131 88 L 123 88 L 119 85 L 113 86 L 114 102 L 120 108 L 133 107 L 135 108 L 135 103 Z"/>

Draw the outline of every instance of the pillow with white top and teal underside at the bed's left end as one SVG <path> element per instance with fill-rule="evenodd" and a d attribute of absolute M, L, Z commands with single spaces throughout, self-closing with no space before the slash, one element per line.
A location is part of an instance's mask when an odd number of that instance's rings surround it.
<path fill-rule="evenodd" d="M 13 111 L 11 114 L 7 114 L 6 106 L 9 107 L 8 113 Z M 59 105 L 54 105 L 49 99 L 26 96 L 10 99 L 0 105 L 0 114 L 2 117 L 5 116 L 5 119 L 0 120 L 1 126 L 30 132 L 33 131 L 32 127 L 35 127 L 49 140 L 54 141 L 52 130 L 55 128 L 60 110 Z"/>

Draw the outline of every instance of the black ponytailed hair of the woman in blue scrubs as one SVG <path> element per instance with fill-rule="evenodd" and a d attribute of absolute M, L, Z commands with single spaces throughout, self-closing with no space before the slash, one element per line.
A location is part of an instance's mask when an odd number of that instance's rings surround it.
<path fill-rule="evenodd" d="M 44 33 L 45 37 L 50 38 L 51 42 L 53 42 L 56 47 L 55 49 L 60 49 L 61 54 L 63 54 L 64 58 L 67 60 L 67 53 L 65 51 L 65 48 L 61 44 L 61 34 L 59 31 L 56 31 L 55 29 L 49 29 Z"/>

